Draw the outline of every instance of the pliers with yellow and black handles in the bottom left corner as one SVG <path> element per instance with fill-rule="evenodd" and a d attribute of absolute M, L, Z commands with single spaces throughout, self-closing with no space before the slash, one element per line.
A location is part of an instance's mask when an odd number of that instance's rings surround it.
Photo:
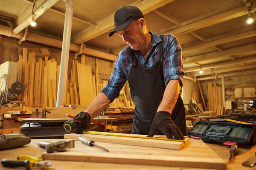
<path fill-rule="evenodd" d="M 50 161 L 44 161 L 43 158 L 33 157 L 29 155 L 20 155 L 17 160 L 2 159 L 1 164 L 4 167 L 25 167 L 26 170 L 32 167 L 46 168 L 52 165 Z"/>

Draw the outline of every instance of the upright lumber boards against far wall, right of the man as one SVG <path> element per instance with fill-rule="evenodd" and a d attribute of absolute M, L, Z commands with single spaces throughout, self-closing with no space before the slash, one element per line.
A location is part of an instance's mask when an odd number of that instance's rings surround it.
<path fill-rule="evenodd" d="M 216 116 L 223 115 L 222 87 L 208 82 L 208 111 L 215 111 Z"/>

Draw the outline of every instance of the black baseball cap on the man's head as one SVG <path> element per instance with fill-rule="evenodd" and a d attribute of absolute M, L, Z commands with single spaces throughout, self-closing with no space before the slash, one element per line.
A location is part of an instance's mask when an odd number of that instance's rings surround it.
<path fill-rule="evenodd" d="M 115 28 L 108 34 L 111 37 L 116 31 L 120 31 L 132 22 L 132 20 L 144 18 L 142 11 L 136 6 L 123 6 L 117 9 L 114 15 Z"/>

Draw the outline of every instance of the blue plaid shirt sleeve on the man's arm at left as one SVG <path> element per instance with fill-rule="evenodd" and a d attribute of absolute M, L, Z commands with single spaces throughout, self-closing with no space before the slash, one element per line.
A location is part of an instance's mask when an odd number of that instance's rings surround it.
<path fill-rule="evenodd" d="M 108 84 L 100 91 L 108 96 L 111 103 L 115 98 L 119 97 L 119 93 L 126 82 L 126 76 L 122 66 L 122 57 L 125 56 L 122 55 L 121 51 L 117 56 L 111 77 L 108 79 Z"/>

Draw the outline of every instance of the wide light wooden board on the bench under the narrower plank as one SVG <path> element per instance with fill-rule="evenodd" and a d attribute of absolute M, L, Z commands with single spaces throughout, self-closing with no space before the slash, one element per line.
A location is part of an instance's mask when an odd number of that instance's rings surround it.
<path fill-rule="evenodd" d="M 96 147 L 88 147 L 80 141 L 76 141 L 76 147 L 68 152 L 50 154 L 44 152 L 42 156 L 47 160 L 89 161 L 101 163 L 118 162 L 120 166 L 121 164 L 129 164 L 129 166 L 132 164 L 140 164 L 148 166 L 156 165 L 157 167 L 226 169 L 225 161 L 201 140 L 193 140 L 193 142 L 182 150 L 138 147 L 103 142 L 98 142 L 98 144 L 102 147 L 106 147 L 110 153 Z M 196 152 L 195 149 L 197 150 Z"/>

